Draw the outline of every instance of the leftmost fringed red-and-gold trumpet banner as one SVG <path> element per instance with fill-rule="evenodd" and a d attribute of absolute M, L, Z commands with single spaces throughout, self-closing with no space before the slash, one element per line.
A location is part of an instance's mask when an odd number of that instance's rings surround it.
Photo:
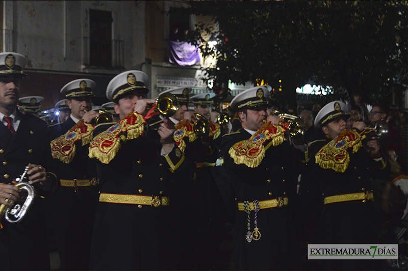
<path fill-rule="evenodd" d="M 69 164 L 75 156 L 75 143 L 81 140 L 82 145 L 88 144 L 92 140 L 92 132 L 93 126 L 81 119 L 64 135 L 51 141 L 53 158 Z"/>

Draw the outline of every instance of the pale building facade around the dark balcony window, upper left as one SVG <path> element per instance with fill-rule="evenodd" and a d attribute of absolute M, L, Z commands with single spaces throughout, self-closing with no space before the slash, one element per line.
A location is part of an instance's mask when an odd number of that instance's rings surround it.
<path fill-rule="evenodd" d="M 112 38 L 124 41 L 125 69 L 144 62 L 144 1 L 4 1 L 4 28 L 12 35 L 3 49 L 25 55 L 29 70 L 116 74 L 83 66 L 89 9 L 112 12 Z"/>

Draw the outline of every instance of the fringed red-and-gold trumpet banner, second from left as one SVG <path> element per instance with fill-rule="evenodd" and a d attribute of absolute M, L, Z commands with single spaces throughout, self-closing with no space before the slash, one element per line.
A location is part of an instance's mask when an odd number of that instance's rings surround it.
<path fill-rule="evenodd" d="M 120 140 L 125 142 L 139 137 L 144 132 L 145 123 L 141 114 L 132 111 L 108 130 L 94 137 L 89 144 L 89 158 L 109 164 L 120 149 Z"/>

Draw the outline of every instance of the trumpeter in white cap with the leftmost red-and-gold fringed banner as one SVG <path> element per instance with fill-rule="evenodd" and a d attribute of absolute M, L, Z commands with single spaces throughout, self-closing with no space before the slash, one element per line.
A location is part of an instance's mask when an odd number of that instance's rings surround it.
<path fill-rule="evenodd" d="M 61 93 L 71 115 L 64 123 L 49 126 L 51 152 L 57 165 L 61 188 L 54 197 L 54 216 L 61 270 L 89 267 L 93 218 L 98 189 L 95 163 L 88 157 L 93 136 L 90 110 L 96 84 L 90 79 L 67 83 Z"/>

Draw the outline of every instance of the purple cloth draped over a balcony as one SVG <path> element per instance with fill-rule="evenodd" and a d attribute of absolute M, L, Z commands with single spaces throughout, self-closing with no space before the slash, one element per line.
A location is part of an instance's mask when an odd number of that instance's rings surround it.
<path fill-rule="evenodd" d="M 170 55 L 169 62 L 180 66 L 191 66 L 200 62 L 200 53 L 198 46 L 188 42 L 169 41 Z"/>

